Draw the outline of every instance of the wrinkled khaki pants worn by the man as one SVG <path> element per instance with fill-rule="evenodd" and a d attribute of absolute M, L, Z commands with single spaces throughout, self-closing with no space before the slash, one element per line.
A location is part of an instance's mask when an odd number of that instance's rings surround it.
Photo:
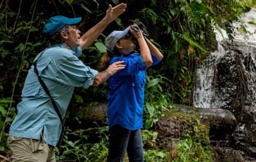
<path fill-rule="evenodd" d="M 42 138 L 37 140 L 9 136 L 8 142 L 13 151 L 12 162 L 56 162 L 54 147 Z"/>

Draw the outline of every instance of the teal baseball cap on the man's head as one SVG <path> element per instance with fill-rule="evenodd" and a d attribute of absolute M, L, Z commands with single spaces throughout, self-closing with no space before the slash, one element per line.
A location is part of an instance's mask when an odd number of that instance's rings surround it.
<path fill-rule="evenodd" d="M 66 25 L 74 25 L 81 21 L 81 17 L 67 18 L 65 16 L 54 16 L 49 19 L 49 21 L 43 27 L 43 33 L 48 36 L 53 36 L 61 28 Z"/>

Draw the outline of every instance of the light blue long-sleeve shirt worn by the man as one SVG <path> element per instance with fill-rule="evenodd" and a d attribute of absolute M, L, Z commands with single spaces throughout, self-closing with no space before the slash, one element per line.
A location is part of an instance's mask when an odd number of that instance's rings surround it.
<path fill-rule="evenodd" d="M 63 118 L 74 87 L 88 88 L 98 74 L 98 71 L 85 66 L 78 59 L 81 52 L 81 46 L 72 51 L 60 44 L 44 50 L 37 62 L 39 76 L 48 87 Z M 46 143 L 56 146 L 61 133 L 61 122 L 32 65 L 22 90 L 22 102 L 17 105 L 17 116 L 11 125 L 9 135 L 40 139 L 41 132 Z"/>

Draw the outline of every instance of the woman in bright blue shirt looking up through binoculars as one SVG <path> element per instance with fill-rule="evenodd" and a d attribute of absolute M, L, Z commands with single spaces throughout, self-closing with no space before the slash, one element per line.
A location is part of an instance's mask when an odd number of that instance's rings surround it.
<path fill-rule="evenodd" d="M 143 36 L 136 32 L 136 24 L 124 31 L 113 31 L 105 41 L 107 53 L 102 57 L 101 70 L 116 61 L 124 61 L 126 68 L 109 78 L 108 122 L 110 143 L 108 162 L 122 162 L 127 149 L 130 162 L 143 162 L 143 104 L 145 70 L 162 60 L 162 53 Z M 128 32 L 130 33 L 128 34 Z M 134 52 L 132 36 L 137 39 L 140 54 Z"/>

